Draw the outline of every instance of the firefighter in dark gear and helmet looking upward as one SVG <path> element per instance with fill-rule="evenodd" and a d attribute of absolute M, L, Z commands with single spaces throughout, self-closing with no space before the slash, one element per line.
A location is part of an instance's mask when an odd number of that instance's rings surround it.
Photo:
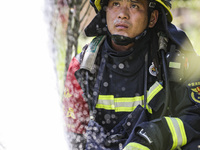
<path fill-rule="evenodd" d="M 200 144 L 200 67 L 170 0 L 90 0 L 95 38 L 69 66 L 72 149 L 174 150 Z"/>

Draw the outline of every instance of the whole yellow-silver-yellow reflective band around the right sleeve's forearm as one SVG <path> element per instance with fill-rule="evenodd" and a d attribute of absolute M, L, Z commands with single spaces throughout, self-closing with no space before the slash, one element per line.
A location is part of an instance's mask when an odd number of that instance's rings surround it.
<path fill-rule="evenodd" d="M 179 146 L 184 146 L 187 143 L 187 137 L 183 122 L 179 118 L 165 117 L 165 119 L 173 139 L 171 150 L 174 150 Z"/>

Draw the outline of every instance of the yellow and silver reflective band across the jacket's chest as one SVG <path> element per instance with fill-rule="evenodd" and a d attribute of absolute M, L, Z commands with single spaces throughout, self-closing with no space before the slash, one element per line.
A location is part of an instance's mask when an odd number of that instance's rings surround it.
<path fill-rule="evenodd" d="M 163 89 L 159 82 L 155 82 L 147 91 L 146 108 L 149 113 L 152 113 L 148 103 Z M 114 110 L 115 112 L 132 112 L 135 108 L 141 105 L 144 107 L 144 95 L 135 97 L 114 97 L 114 95 L 99 95 L 96 104 L 97 109 Z"/>

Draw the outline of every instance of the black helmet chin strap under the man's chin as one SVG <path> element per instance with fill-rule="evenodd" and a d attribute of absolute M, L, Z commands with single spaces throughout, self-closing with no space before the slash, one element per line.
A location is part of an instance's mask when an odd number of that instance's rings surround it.
<path fill-rule="evenodd" d="M 119 34 L 111 34 L 108 31 L 108 35 L 111 37 L 112 41 L 117 44 L 117 45 L 121 45 L 121 46 L 126 46 L 129 45 L 131 43 L 134 43 L 138 40 L 140 40 L 142 37 L 144 37 L 147 33 L 147 29 L 145 29 L 141 34 L 139 34 L 138 36 L 134 37 L 134 38 L 130 38 L 127 36 L 123 36 L 123 35 L 119 35 Z"/>

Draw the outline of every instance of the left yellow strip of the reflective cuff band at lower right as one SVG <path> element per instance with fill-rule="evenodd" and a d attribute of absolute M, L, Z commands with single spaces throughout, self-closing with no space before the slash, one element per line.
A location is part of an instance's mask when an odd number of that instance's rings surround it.
<path fill-rule="evenodd" d="M 171 150 L 174 150 L 176 148 L 177 144 L 178 144 L 176 131 L 174 129 L 174 125 L 172 123 L 172 120 L 169 117 L 165 117 L 165 119 L 166 119 L 168 127 L 169 127 L 169 129 L 171 131 L 172 139 L 173 139 L 173 145 L 172 145 Z"/>

